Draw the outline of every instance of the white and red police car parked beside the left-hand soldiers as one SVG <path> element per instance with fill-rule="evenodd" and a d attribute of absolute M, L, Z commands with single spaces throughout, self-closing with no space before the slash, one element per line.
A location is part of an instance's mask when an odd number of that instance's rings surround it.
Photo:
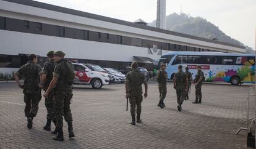
<path fill-rule="evenodd" d="M 74 84 L 92 85 L 93 89 L 101 89 L 103 85 L 109 84 L 109 74 L 94 71 L 84 63 L 72 63 L 75 70 Z"/>

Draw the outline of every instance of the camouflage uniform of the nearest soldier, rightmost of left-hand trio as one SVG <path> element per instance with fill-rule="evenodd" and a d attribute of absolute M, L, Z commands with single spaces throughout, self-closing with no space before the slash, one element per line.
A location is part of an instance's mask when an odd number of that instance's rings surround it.
<path fill-rule="evenodd" d="M 58 81 L 54 88 L 54 118 L 57 122 L 57 127 L 63 127 L 63 118 L 64 116 L 65 121 L 72 122 L 72 114 L 70 110 L 70 100 L 72 99 L 72 81 L 69 81 L 69 72 L 74 73 L 74 68 L 72 64 L 67 63 L 67 60 L 64 58 L 57 62 L 53 77 L 57 77 Z"/>

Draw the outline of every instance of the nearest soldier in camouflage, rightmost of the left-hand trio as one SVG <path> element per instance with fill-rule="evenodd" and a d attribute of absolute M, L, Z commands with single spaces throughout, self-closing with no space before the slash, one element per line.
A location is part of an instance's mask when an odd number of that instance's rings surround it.
<path fill-rule="evenodd" d="M 75 137 L 72 126 L 72 114 L 70 110 L 70 100 L 72 99 L 72 84 L 75 79 L 74 67 L 72 63 L 64 59 L 64 52 L 61 50 L 54 52 L 54 62 L 56 66 L 53 72 L 53 79 L 49 84 L 44 97 L 48 97 L 49 92 L 54 87 L 54 118 L 56 119 L 57 135 L 54 140 L 63 141 L 63 118 L 67 121 L 69 138 Z"/>

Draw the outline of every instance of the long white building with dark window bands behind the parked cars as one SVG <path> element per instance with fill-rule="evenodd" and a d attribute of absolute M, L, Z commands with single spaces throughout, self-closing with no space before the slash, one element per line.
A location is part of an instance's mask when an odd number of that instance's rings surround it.
<path fill-rule="evenodd" d="M 0 45 L 0 73 L 19 68 L 30 53 L 40 55 L 42 65 L 49 50 L 113 68 L 133 60 L 148 67 L 149 60 L 173 50 L 245 52 L 241 46 L 30 0 L 0 0 Z"/>

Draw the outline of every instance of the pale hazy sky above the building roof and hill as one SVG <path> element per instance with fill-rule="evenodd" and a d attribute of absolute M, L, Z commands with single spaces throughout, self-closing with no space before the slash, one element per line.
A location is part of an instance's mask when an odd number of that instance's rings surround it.
<path fill-rule="evenodd" d="M 134 22 L 156 20 L 157 0 L 36 0 Z M 202 17 L 231 38 L 255 49 L 256 0 L 166 0 L 166 15 L 186 13 Z"/>

